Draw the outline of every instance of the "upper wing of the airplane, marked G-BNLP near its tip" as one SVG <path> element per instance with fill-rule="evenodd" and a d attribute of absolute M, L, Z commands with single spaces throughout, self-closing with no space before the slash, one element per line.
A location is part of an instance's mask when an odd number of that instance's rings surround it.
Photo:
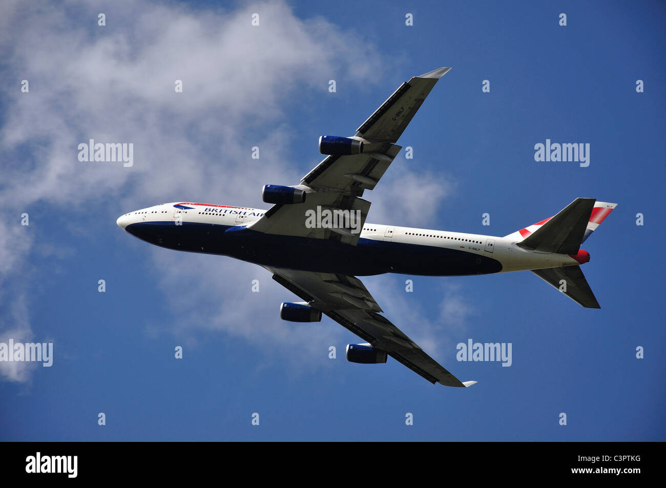
<path fill-rule="evenodd" d="M 450 68 L 440 68 L 400 85 L 357 129 L 356 136 L 369 144 L 368 152 L 327 156 L 300 181 L 296 188 L 306 191 L 302 204 L 274 205 L 247 228 L 268 234 L 335 239 L 356 245 L 366 221 L 370 202 L 360 198 L 372 190 L 402 149 L 394 144 L 404 132 L 428 93 Z M 360 222 L 354 228 L 312 228 L 306 225 L 306 212 L 317 209 L 359 210 Z M 355 214 L 356 215 L 356 214 Z"/>

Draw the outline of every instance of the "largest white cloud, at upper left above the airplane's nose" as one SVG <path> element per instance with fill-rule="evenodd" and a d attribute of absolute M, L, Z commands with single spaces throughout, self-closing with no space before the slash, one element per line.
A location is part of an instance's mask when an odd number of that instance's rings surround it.
<path fill-rule="evenodd" d="M 358 49 L 353 34 L 302 21 L 282 2 L 217 15 L 127 3 L 129 11 L 107 12 L 106 27 L 82 24 L 97 18 L 93 5 L 76 19 L 50 4 L 17 9 L 9 27 L 15 44 L 7 71 L 31 90 L 10 92 L 0 141 L 8 151 L 33 145 L 34 168 L 25 174 L 25 161 L 8 164 L 14 184 L 3 193 L 24 204 L 86 200 L 127 183 L 151 201 L 176 190 L 219 191 L 222 182 L 242 188 L 216 170 L 237 168 L 254 145 L 282 156 L 272 124 L 286 101 L 298 101 L 296 89 L 324 87 L 332 73 L 366 83 L 380 72 L 372 46 Z M 250 25 L 252 12 L 261 15 L 259 27 Z M 183 93 L 174 92 L 176 79 Z M 89 138 L 133 142 L 135 166 L 79 162 L 75 148 Z M 275 174 L 284 173 L 280 166 L 271 166 Z"/>

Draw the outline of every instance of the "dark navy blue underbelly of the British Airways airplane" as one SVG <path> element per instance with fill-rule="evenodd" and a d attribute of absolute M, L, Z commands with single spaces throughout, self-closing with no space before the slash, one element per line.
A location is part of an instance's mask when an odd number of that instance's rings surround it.
<path fill-rule="evenodd" d="M 277 236 L 229 226 L 183 222 L 139 222 L 125 230 L 169 249 L 220 254 L 293 270 L 366 276 L 400 273 L 424 276 L 488 274 L 501 271 L 498 260 L 463 250 L 361 238 L 357 246 L 336 240 Z"/>

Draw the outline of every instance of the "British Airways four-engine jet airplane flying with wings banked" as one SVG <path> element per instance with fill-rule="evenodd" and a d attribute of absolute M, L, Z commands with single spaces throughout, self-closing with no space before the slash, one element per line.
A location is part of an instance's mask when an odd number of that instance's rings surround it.
<path fill-rule="evenodd" d="M 268 210 L 172 202 L 129 212 L 118 226 L 163 248 L 231 256 L 263 266 L 302 302 L 280 318 L 319 322 L 322 314 L 366 341 L 346 359 L 386 363 L 390 356 L 431 383 L 468 387 L 382 315 L 358 276 L 398 273 L 464 276 L 529 270 L 586 308 L 601 308 L 580 266 L 580 246 L 616 204 L 576 198 L 559 213 L 507 236 L 366 222 L 373 190 L 402 149 L 398 138 L 435 84 L 440 68 L 400 87 L 350 137 L 322 136 L 326 158 L 294 186 L 265 185 Z"/>

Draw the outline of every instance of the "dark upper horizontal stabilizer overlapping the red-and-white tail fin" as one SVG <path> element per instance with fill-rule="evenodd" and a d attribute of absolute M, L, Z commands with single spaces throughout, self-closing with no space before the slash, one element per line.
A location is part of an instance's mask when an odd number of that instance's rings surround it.
<path fill-rule="evenodd" d="M 595 201 L 594 198 L 576 198 L 518 245 L 543 252 L 577 254 Z"/>

